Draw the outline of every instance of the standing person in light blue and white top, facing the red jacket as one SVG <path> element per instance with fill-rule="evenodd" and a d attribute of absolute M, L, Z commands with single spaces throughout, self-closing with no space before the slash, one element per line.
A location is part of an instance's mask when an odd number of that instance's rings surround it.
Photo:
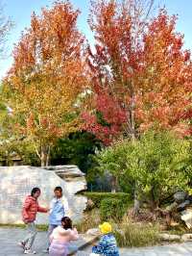
<path fill-rule="evenodd" d="M 48 245 L 45 250 L 46 252 L 49 252 L 49 237 L 53 233 L 54 229 L 61 225 L 61 218 L 66 217 L 68 211 L 68 202 L 63 197 L 62 188 L 56 187 L 54 193 L 55 196 L 50 203 Z"/>

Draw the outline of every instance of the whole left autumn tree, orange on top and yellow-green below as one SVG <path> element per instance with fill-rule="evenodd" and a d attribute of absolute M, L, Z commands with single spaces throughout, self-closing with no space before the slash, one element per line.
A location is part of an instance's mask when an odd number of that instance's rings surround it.
<path fill-rule="evenodd" d="M 84 37 L 77 29 L 79 11 L 69 2 L 33 13 L 31 27 L 13 51 L 4 81 L 4 96 L 15 118 L 15 129 L 30 138 L 48 164 L 57 138 L 80 126 L 78 97 L 84 91 Z"/>

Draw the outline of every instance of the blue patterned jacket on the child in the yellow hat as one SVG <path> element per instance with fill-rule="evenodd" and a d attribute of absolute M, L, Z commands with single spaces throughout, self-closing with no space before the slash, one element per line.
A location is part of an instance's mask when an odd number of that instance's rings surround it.
<path fill-rule="evenodd" d="M 102 256 L 119 256 L 119 249 L 113 234 L 104 235 L 98 245 L 92 248 L 92 252 Z"/>

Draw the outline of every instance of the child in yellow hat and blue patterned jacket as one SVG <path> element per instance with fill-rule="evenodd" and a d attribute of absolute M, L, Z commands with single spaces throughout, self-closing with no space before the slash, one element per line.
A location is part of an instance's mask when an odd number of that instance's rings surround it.
<path fill-rule="evenodd" d="M 112 227 L 108 222 L 99 225 L 102 237 L 98 245 L 92 248 L 92 255 L 119 256 L 116 239 L 112 234 Z"/>

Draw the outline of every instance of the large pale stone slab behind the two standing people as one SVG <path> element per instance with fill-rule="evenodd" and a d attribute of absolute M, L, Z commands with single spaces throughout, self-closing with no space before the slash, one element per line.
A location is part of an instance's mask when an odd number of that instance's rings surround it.
<path fill-rule="evenodd" d="M 60 176 L 59 176 L 60 175 Z M 27 194 L 39 187 L 39 204 L 49 206 L 54 188 L 60 186 L 69 204 L 69 216 L 78 222 L 83 218 L 86 198 L 77 192 L 86 190 L 84 173 L 77 166 L 0 167 L 0 223 L 20 223 L 21 209 Z M 46 224 L 48 215 L 38 214 L 36 223 Z"/>

